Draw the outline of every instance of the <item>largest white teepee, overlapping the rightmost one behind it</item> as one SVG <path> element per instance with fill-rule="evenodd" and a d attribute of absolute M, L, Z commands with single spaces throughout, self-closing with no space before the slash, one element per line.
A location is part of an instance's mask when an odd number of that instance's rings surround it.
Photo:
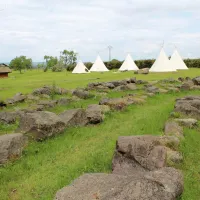
<path fill-rule="evenodd" d="M 170 61 L 162 48 L 159 56 L 152 65 L 150 72 L 174 72 L 176 69 L 170 64 Z"/>

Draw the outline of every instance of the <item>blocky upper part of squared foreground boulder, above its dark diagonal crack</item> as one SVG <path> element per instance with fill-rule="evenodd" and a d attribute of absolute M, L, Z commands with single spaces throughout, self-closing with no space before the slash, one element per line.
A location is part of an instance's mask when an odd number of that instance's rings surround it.
<path fill-rule="evenodd" d="M 116 151 L 138 163 L 145 170 L 155 170 L 166 166 L 167 151 L 156 136 L 119 137 Z M 115 167 L 113 165 L 113 170 Z"/>

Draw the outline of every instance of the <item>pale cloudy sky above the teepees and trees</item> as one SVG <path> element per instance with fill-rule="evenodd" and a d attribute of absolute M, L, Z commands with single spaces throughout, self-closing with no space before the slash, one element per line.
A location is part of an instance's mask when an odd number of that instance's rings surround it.
<path fill-rule="evenodd" d="M 43 61 L 74 50 L 93 62 L 156 58 L 164 41 L 184 58 L 200 57 L 199 0 L 0 0 L 0 62 Z"/>

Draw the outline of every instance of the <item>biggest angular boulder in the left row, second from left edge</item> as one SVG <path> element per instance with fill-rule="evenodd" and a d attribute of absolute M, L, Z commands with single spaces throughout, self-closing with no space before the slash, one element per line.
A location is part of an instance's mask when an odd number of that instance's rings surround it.
<path fill-rule="evenodd" d="M 24 113 L 20 117 L 18 131 L 40 141 L 60 134 L 65 127 L 65 123 L 55 113 L 38 111 Z"/>

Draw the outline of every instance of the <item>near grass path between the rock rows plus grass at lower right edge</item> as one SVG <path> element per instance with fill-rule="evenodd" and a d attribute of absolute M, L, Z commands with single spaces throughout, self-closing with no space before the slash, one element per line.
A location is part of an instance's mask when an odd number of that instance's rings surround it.
<path fill-rule="evenodd" d="M 58 189 L 83 173 L 110 172 L 118 136 L 162 135 L 175 99 L 189 94 L 200 95 L 200 91 L 157 95 L 143 106 L 109 113 L 98 126 L 70 128 L 55 138 L 29 144 L 20 160 L 0 168 L 0 199 L 51 200 Z M 189 129 L 185 133 L 181 145 L 185 161 L 179 166 L 185 175 L 182 200 L 198 200 L 200 134 Z"/>

